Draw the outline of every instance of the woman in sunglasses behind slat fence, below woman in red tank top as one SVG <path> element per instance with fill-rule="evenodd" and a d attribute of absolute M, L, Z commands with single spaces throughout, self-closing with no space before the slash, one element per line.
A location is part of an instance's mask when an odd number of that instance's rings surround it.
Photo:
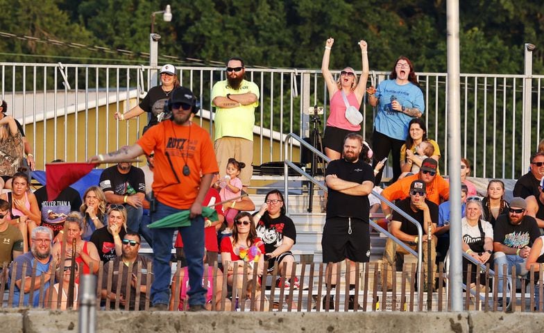
<path fill-rule="evenodd" d="M 45 305 L 49 303 L 52 310 L 60 309 L 65 310 L 68 307 L 68 293 L 70 284 L 70 273 L 74 270 L 76 281 L 79 280 L 79 268 L 78 264 L 74 267 L 71 266 L 71 260 L 66 259 L 64 265 L 57 268 L 56 278 L 57 281 L 62 280 L 62 289 L 60 290 L 60 304 L 58 303 L 58 293 L 60 289 L 60 282 L 53 284 L 53 291 L 51 293 L 51 299 L 49 299 L 49 289 L 45 291 Z M 74 283 L 74 305 L 72 309 L 78 309 L 78 290 L 79 284 Z"/>

